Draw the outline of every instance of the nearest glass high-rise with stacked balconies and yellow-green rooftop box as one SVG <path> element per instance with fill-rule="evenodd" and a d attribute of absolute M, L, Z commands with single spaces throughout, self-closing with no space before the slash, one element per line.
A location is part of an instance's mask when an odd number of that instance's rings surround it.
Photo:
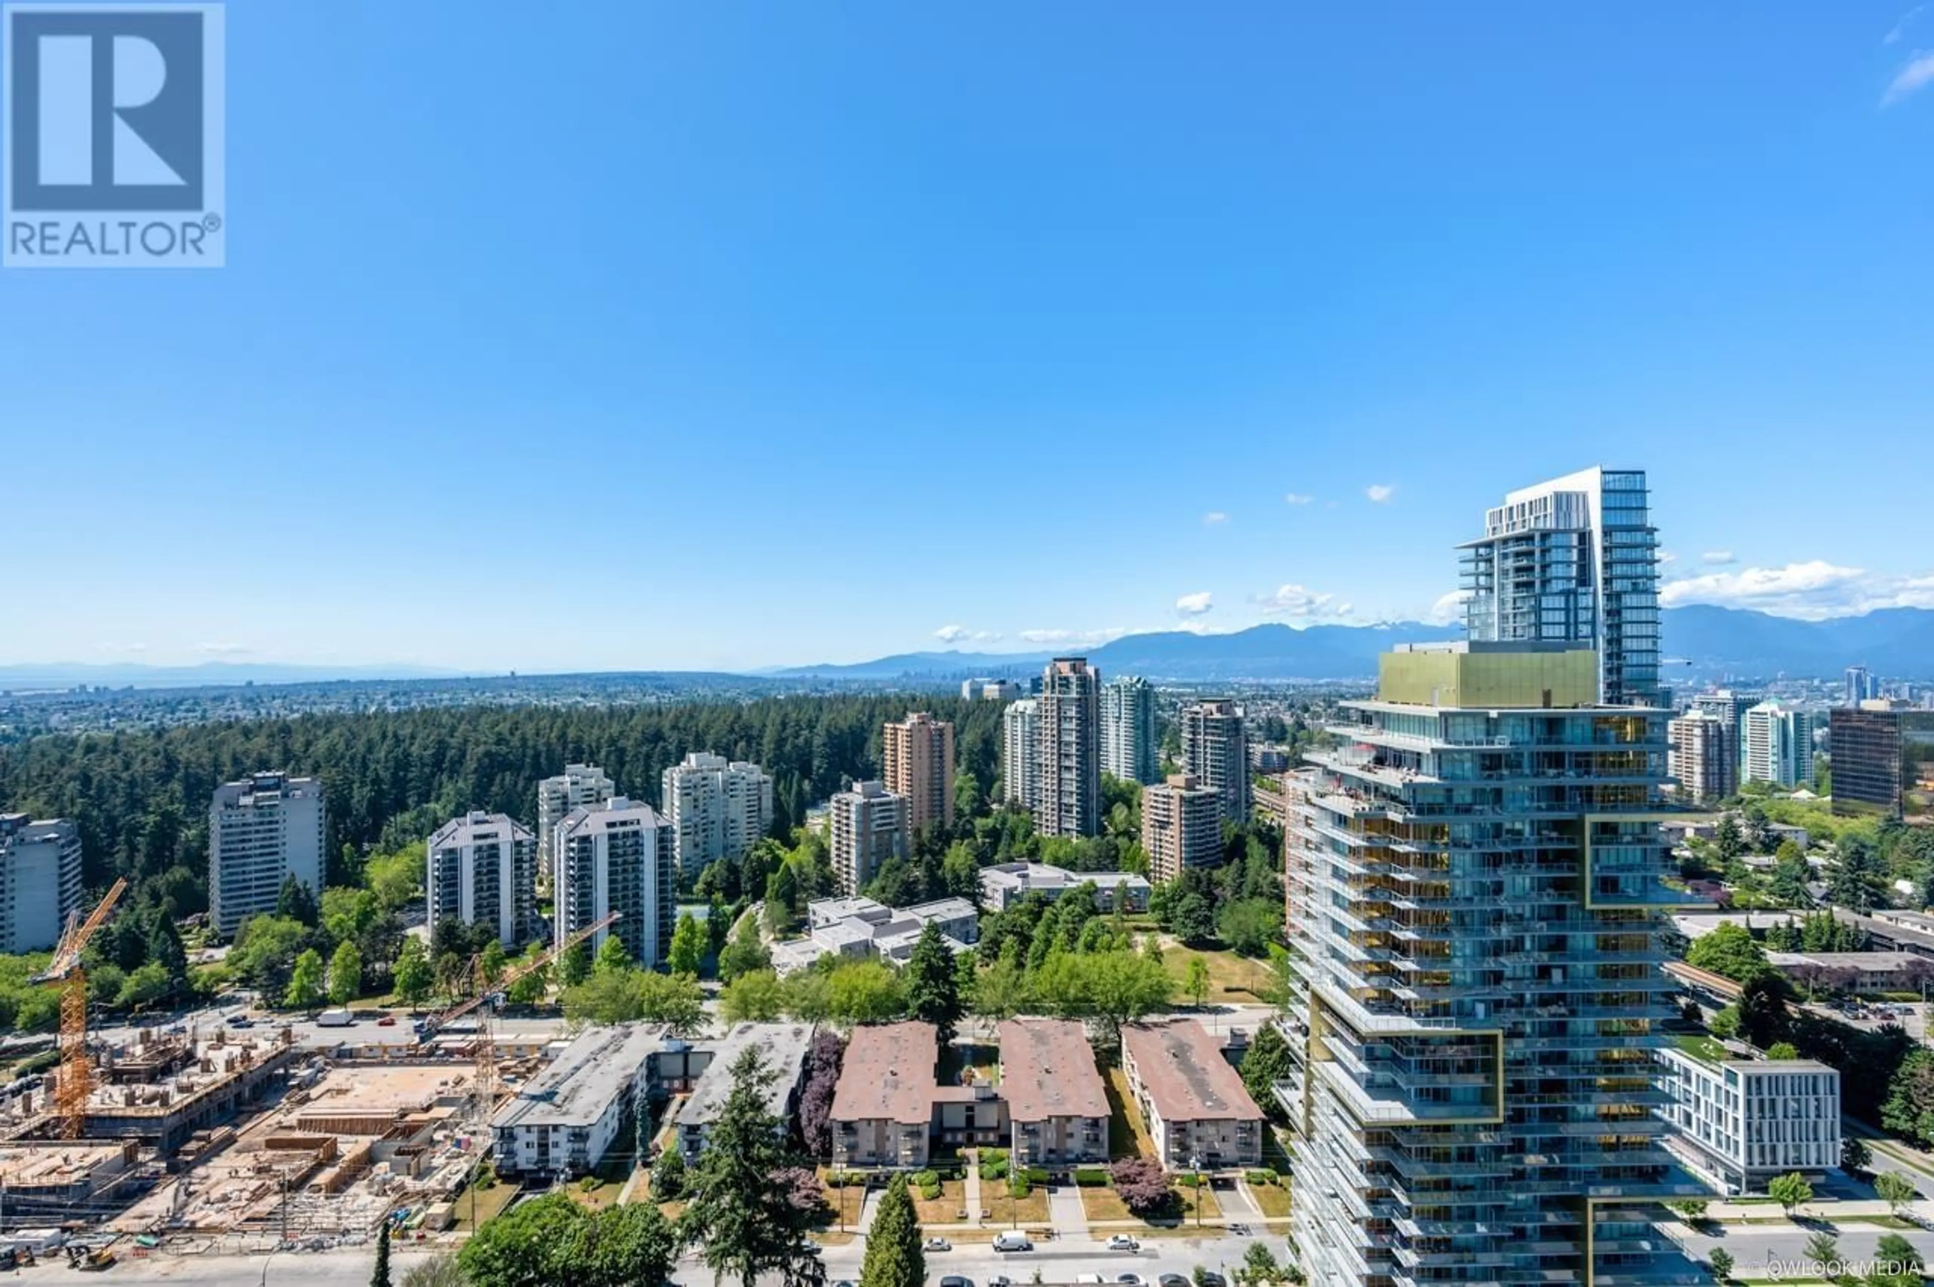
<path fill-rule="evenodd" d="M 1654 1047 L 1669 711 L 1567 644 L 1389 653 L 1290 775 L 1290 1239 L 1313 1287 L 1692 1283 Z"/>

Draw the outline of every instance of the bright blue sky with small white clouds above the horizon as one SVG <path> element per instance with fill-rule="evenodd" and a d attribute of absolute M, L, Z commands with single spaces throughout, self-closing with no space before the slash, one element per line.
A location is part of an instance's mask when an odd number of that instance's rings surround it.
<path fill-rule="evenodd" d="M 1928 50 L 1866 0 L 234 4 L 228 267 L 0 274 L 0 661 L 1418 616 L 1596 462 L 1673 601 L 1934 605 Z"/>

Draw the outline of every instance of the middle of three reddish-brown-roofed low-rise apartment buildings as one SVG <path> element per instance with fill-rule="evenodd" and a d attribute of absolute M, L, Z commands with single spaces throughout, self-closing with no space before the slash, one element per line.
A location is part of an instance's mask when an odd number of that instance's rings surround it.
<path fill-rule="evenodd" d="M 1000 1096 L 1008 1101 L 1015 1167 L 1108 1161 L 1108 1092 L 1079 1022 L 1002 1022 Z"/>

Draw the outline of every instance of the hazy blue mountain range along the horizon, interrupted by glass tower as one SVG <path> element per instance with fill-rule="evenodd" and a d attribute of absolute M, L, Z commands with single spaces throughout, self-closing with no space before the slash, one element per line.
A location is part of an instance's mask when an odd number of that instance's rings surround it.
<path fill-rule="evenodd" d="M 1685 678 L 1835 676 L 1851 665 L 1876 674 L 1934 678 L 1934 609 L 1884 609 L 1864 616 L 1795 620 L 1746 609 L 1692 605 L 1667 609 L 1659 626 L 1665 682 Z M 1251 626 L 1230 634 L 1168 630 L 1129 634 L 1112 644 L 1062 653 L 897 653 L 853 665 L 789 667 L 795 678 L 1013 678 L 1035 674 L 1056 655 L 1079 653 L 1102 674 L 1216 680 L 1348 680 L 1377 672 L 1377 653 L 1392 644 L 1462 638 L 1456 626 L 1385 622 L 1375 626 Z"/>

